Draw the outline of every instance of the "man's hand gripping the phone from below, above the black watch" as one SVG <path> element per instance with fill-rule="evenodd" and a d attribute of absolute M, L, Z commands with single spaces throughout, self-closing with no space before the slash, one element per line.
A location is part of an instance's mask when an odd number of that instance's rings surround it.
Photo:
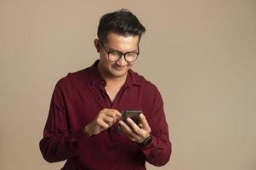
<path fill-rule="evenodd" d="M 129 117 L 126 119 L 127 124 L 122 121 L 120 121 L 119 124 L 122 127 L 122 131 L 126 133 L 129 139 L 141 143 L 150 136 L 151 127 L 142 113 L 139 114 L 139 120 L 139 126 Z"/>

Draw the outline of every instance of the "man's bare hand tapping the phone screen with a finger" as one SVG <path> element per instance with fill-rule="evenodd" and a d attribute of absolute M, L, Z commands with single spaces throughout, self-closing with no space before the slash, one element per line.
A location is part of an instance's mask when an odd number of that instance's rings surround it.
<path fill-rule="evenodd" d="M 111 127 L 121 117 L 121 113 L 113 109 L 103 109 L 98 116 L 95 117 L 93 122 L 83 127 L 83 133 L 92 136 L 100 133 L 101 131 Z"/>

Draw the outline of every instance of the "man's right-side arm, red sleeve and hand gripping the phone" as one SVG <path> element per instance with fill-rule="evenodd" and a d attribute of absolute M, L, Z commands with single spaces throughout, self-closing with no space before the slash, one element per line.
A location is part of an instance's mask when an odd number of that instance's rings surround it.
<path fill-rule="evenodd" d="M 155 166 L 163 166 L 171 156 L 172 147 L 168 136 L 168 124 L 163 111 L 162 97 L 158 91 L 155 99 L 151 116 L 139 115 L 141 121 L 139 126 L 130 118 L 127 119 L 129 126 L 122 121 L 120 121 L 120 124 L 128 138 L 137 143 L 144 142 L 151 135 L 151 143 L 139 147 L 144 153 L 146 161 Z"/>

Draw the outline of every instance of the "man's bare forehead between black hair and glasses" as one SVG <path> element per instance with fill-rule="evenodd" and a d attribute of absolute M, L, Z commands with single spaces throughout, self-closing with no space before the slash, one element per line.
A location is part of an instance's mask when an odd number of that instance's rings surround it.
<path fill-rule="evenodd" d="M 106 45 L 108 48 L 114 48 L 120 51 L 136 50 L 139 43 L 139 36 L 120 35 L 109 33 L 107 35 Z"/>

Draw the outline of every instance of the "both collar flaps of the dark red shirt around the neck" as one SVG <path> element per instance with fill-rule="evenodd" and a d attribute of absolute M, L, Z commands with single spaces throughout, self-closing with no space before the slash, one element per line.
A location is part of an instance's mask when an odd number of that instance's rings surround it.
<path fill-rule="evenodd" d="M 94 64 L 89 68 L 89 75 L 90 75 L 90 83 L 91 85 L 102 83 L 105 84 L 105 80 L 100 76 L 100 71 L 98 70 L 98 64 L 100 59 L 97 59 Z M 131 69 L 128 70 L 128 75 L 126 77 L 126 81 L 124 82 L 124 87 L 130 88 L 131 86 L 140 86 L 141 81 L 137 73 L 132 71 Z"/>

